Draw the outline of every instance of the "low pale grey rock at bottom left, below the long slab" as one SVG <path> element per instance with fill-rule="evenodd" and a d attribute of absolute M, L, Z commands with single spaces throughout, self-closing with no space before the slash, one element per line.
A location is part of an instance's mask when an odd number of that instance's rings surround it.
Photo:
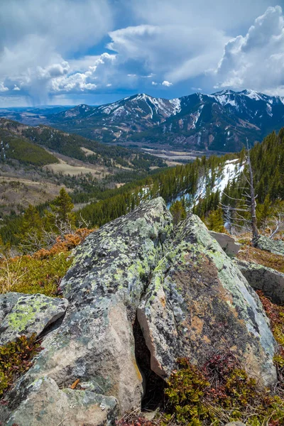
<path fill-rule="evenodd" d="M 38 378 L 26 389 L 25 402 L 6 426 L 113 425 L 119 412 L 113 397 L 89 391 L 59 389 L 52 378 Z"/>

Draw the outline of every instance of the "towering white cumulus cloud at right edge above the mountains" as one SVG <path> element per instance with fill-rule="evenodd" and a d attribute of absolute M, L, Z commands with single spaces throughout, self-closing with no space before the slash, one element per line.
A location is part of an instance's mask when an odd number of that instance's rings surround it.
<path fill-rule="evenodd" d="M 284 18 L 280 6 L 269 7 L 245 36 L 226 43 L 215 77 L 215 87 L 283 91 Z"/>

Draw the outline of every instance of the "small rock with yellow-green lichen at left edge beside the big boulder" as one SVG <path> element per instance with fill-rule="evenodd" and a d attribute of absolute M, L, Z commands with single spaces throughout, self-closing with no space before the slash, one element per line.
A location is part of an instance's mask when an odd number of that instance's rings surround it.
<path fill-rule="evenodd" d="M 0 324 L 0 345 L 4 345 L 22 334 L 38 336 L 65 314 L 68 302 L 40 294 L 7 293 L 2 295 L 1 305 L 6 306 L 6 315 Z"/>

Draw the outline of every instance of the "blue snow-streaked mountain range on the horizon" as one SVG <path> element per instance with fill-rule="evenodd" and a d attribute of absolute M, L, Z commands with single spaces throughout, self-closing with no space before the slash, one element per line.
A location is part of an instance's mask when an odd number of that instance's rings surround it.
<path fill-rule="evenodd" d="M 244 90 L 195 93 L 176 99 L 137 94 L 100 107 L 79 105 L 54 114 L 50 123 L 114 143 L 239 151 L 284 126 L 284 97 Z"/>

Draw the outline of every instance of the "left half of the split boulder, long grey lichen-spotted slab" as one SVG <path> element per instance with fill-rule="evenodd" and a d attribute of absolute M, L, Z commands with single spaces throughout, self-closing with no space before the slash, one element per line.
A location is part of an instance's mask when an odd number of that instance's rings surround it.
<path fill-rule="evenodd" d="M 28 383 L 48 376 L 67 388 L 79 378 L 117 398 L 122 413 L 141 405 L 132 326 L 172 231 L 171 214 L 158 198 L 87 237 L 60 285 L 68 311 L 60 328 L 45 337 L 45 349 L 25 376 Z M 17 389 L 13 399 L 21 400 Z"/>

